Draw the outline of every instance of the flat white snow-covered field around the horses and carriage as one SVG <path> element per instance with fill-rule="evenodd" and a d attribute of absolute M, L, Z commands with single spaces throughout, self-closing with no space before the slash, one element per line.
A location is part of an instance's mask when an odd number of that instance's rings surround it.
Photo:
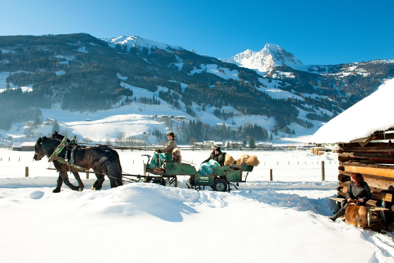
<path fill-rule="evenodd" d="M 146 153 L 119 152 L 124 172 L 142 173 Z M 54 194 L 57 174 L 45 169 L 45 158 L 33 162 L 33 152 L 0 150 L 0 262 L 394 262 L 393 233 L 327 218 L 337 154 L 253 154 L 260 165 L 231 193 L 190 190 L 180 176 L 178 188 L 109 189 L 106 180 L 102 191 L 92 191 L 89 179 L 83 192 L 63 186 Z M 195 163 L 208 155 L 182 151 L 183 160 Z"/>

